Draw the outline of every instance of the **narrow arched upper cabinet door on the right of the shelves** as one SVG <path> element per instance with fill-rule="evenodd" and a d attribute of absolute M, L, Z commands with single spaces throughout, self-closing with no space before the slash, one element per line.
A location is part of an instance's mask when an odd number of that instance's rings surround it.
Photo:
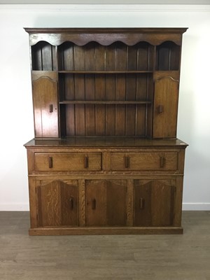
<path fill-rule="evenodd" d="M 153 138 L 176 137 L 179 80 L 169 72 L 155 79 Z"/>

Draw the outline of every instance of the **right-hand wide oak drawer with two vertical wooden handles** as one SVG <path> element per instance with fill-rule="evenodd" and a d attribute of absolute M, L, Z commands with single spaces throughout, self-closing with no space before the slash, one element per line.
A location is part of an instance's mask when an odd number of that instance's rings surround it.
<path fill-rule="evenodd" d="M 111 153 L 112 170 L 176 170 L 178 153 Z"/>

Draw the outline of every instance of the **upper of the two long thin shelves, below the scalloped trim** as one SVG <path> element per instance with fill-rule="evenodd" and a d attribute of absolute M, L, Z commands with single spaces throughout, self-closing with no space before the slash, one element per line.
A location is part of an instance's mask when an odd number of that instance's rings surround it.
<path fill-rule="evenodd" d="M 130 74 L 130 73 L 153 73 L 148 70 L 114 70 L 114 71 L 58 71 L 64 74 Z"/>

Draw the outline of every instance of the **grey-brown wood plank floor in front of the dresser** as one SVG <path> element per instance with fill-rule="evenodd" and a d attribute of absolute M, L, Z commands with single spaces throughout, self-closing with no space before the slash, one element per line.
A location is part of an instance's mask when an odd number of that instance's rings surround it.
<path fill-rule="evenodd" d="M 183 235 L 29 237 L 28 212 L 0 212 L 1 280 L 210 280 L 210 211 Z"/>

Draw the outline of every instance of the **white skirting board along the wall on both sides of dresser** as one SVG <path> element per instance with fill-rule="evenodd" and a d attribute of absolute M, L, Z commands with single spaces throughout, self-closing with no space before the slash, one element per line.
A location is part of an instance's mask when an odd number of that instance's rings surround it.
<path fill-rule="evenodd" d="M 210 203 L 183 203 L 183 211 L 210 211 Z M 29 211 L 29 204 L 0 204 L 0 211 Z"/>

